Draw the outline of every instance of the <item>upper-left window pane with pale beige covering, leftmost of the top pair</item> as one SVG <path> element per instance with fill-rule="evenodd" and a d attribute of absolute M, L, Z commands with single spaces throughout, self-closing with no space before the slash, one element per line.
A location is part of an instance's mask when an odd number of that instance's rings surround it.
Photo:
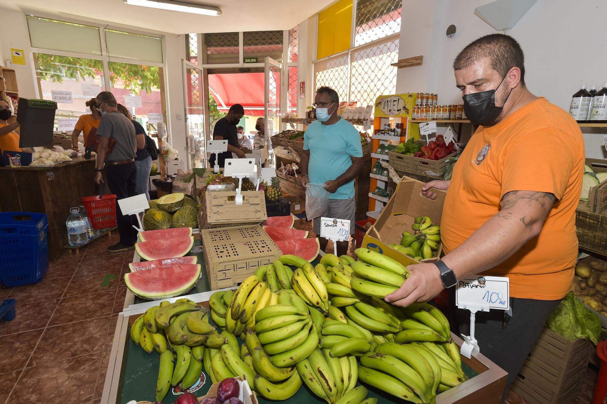
<path fill-rule="evenodd" d="M 32 47 L 101 56 L 98 27 L 30 15 L 26 18 Z"/>

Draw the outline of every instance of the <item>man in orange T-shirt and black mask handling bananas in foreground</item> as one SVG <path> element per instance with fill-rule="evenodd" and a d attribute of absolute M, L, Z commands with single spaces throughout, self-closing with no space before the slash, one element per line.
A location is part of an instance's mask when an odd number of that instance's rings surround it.
<path fill-rule="evenodd" d="M 508 372 L 504 399 L 574 277 L 585 149 L 574 119 L 527 90 L 515 39 L 476 39 L 453 69 L 466 116 L 480 127 L 452 180 L 423 188 L 430 199 L 436 198 L 432 188 L 447 190 L 441 218 L 446 255 L 410 265 L 409 279 L 385 300 L 407 306 L 472 275 L 508 277 L 510 311 L 477 312 L 475 329 L 481 354 Z M 470 335 L 470 313 L 458 309 L 456 317 L 459 331 Z"/>

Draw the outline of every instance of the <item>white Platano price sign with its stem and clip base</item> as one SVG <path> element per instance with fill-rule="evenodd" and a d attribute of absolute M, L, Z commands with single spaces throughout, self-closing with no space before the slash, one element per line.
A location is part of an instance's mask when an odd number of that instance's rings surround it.
<path fill-rule="evenodd" d="M 480 352 L 474 337 L 477 311 L 510 309 L 510 280 L 506 277 L 473 276 L 459 280 L 455 289 L 455 302 L 459 309 L 470 311 L 470 335 L 463 335 L 460 352 L 467 358 Z"/>

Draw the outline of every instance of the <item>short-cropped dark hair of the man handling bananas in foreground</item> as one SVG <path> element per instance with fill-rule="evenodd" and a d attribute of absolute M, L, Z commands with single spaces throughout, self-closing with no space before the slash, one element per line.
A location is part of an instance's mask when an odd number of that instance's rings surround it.
<path fill-rule="evenodd" d="M 453 70 L 463 70 L 480 59 L 487 58 L 490 67 L 504 78 L 512 67 L 521 70 L 520 84 L 525 86 L 524 56 L 521 45 L 512 36 L 491 34 L 482 36 L 467 45 L 453 61 Z"/>

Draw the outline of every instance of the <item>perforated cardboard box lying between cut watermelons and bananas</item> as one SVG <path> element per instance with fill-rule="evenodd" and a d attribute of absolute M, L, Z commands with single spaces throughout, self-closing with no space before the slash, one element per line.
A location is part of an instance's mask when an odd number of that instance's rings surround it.
<path fill-rule="evenodd" d="M 282 252 L 259 224 L 200 229 L 211 290 L 236 286 Z"/>

